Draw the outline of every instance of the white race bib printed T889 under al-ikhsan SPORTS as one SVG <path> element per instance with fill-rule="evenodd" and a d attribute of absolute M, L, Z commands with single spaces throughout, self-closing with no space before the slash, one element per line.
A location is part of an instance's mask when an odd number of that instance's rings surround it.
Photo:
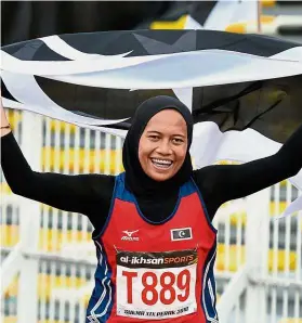
<path fill-rule="evenodd" d="M 197 311 L 196 250 L 117 253 L 117 315 L 162 320 Z"/>

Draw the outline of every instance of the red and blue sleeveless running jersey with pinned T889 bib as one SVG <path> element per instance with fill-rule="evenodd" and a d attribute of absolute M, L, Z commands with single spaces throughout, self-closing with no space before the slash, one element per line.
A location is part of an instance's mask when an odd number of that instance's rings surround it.
<path fill-rule="evenodd" d="M 172 215 L 153 223 L 119 175 L 93 240 L 97 268 L 87 323 L 218 323 L 216 230 L 193 180 L 180 188 Z"/>

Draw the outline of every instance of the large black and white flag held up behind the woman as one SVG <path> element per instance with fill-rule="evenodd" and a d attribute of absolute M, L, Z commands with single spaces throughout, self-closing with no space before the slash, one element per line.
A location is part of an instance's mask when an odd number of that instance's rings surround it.
<path fill-rule="evenodd" d="M 198 167 L 248 162 L 302 124 L 301 57 L 296 42 L 205 29 L 51 36 L 2 48 L 2 95 L 8 107 L 120 135 L 143 101 L 176 96 L 207 126 L 193 142 Z M 292 183 L 302 189 L 301 172 Z"/>

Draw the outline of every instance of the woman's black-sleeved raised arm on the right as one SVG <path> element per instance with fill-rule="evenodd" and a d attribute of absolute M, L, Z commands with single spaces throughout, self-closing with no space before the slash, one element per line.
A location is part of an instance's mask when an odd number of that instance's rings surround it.
<path fill-rule="evenodd" d="M 302 125 L 274 155 L 241 165 L 213 165 L 194 172 L 210 217 L 225 202 L 293 177 L 302 168 Z"/>

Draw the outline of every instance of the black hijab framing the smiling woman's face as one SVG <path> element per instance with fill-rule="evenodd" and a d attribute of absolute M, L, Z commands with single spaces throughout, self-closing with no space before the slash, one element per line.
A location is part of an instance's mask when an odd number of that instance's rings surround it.
<path fill-rule="evenodd" d="M 158 182 L 149 178 L 143 170 L 139 159 L 139 143 L 149 119 L 157 113 L 172 108 L 185 119 L 187 126 L 187 152 L 180 170 L 169 180 Z M 189 146 L 193 134 L 193 118 L 189 109 L 175 98 L 160 95 L 146 100 L 136 109 L 131 127 L 124 140 L 122 163 L 126 170 L 126 186 L 137 199 L 160 202 L 178 195 L 180 186 L 192 176 Z M 171 199 L 171 198 L 170 198 Z"/>

